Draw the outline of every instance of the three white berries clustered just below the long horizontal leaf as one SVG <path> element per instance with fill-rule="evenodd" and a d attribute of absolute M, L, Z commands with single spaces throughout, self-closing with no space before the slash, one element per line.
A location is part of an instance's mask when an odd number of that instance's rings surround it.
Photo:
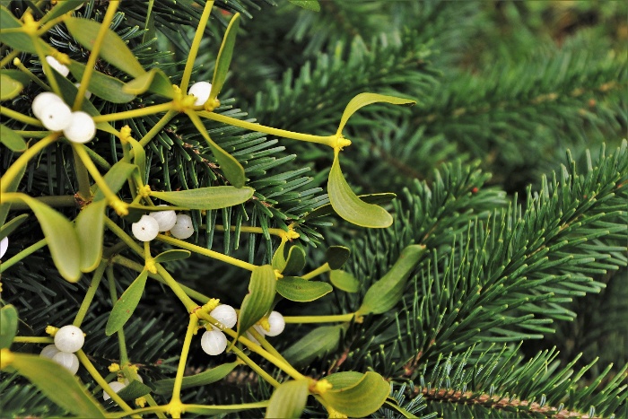
<path fill-rule="evenodd" d="M 135 239 L 140 241 L 151 241 L 160 231 L 170 231 L 176 239 L 184 240 L 194 234 L 194 225 L 189 215 L 176 214 L 172 210 L 155 211 L 142 215 L 137 223 L 131 225 L 131 230 Z"/>

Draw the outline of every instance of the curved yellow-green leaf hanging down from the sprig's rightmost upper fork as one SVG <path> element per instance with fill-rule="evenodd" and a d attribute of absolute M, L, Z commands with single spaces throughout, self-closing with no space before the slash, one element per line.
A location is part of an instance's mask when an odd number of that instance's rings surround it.
<path fill-rule="evenodd" d="M 349 223 L 371 229 L 381 229 L 389 227 L 393 222 L 392 215 L 388 214 L 384 208 L 366 204 L 355 196 L 349 184 L 346 183 L 342 170 L 340 170 L 337 152 L 334 157 L 334 164 L 329 171 L 327 194 L 336 214 Z"/>

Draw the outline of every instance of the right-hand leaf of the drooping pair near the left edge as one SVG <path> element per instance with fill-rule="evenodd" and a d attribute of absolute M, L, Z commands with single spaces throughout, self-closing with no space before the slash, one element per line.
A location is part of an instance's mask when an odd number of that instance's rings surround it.
<path fill-rule="evenodd" d="M 102 258 L 102 236 L 105 230 L 105 207 L 100 200 L 87 205 L 76 217 L 74 229 L 81 244 L 81 271 L 92 272 Z"/>

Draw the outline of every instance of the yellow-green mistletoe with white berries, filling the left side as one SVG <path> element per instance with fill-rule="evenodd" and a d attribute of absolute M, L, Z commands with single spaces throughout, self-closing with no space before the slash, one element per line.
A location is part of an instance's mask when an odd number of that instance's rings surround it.
<path fill-rule="evenodd" d="M 81 3 L 82 4 L 82 3 Z M 305 253 L 299 246 L 288 248 L 288 242 L 299 237 L 294 231 L 297 221 L 289 226 L 288 231 L 271 229 L 281 239 L 279 249 L 275 252 L 271 265 L 257 266 L 244 262 L 238 258 L 215 252 L 185 241 L 190 229 L 185 214 L 176 215 L 175 211 L 213 210 L 247 202 L 253 193 L 253 188 L 247 187 L 247 179 L 240 162 L 230 153 L 223 150 L 214 142 L 205 129 L 203 119 L 211 119 L 233 127 L 243 127 L 252 131 L 277 135 L 298 141 L 322 144 L 330 147 L 334 153 L 334 161 L 329 172 L 327 190 L 330 205 L 336 214 L 346 221 L 363 227 L 385 228 L 392 222 L 392 216 L 380 207 L 367 202 L 369 199 L 356 196 L 349 187 L 340 168 L 340 152 L 351 144 L 343 135 L 343 130 L 349 118 L 357 110 L 373 103 L 390 103 L 396 105 L 412 105 L 414 100 L 400 99 L 376 93 L 362 93 L 354 97 L 347 104 L 340 118 L 340 124 L 333 135 L 310 135 L 292 132 L 274 127 L 265 127 L 240 119 L 230 118 L 214 112 L 220 106 L 218 96 L 225 83 L 226 75 L 231 63 L 235 45 L 236 32 L 240 24 L 240 14 L 236 13 L 225 32 L 222 46 L 216 59 L 212 83 L 200 82 L 189 85 L 192 69 L 196 61 L 198 48 L 205 32 L 214 2 L 207 1 L 196 29 L 188 54 L 187 63 L 179 85 L 173 84 L 170 78 L 159 68 L 146 71 L 137 58 L 118 35 L 109 29 L 109 24 L 116 16 L 119 1 L 110 1 L 107 12 L 101 23 L 74 17 L 77 2 L 57 1 L 50 7 L 48 13 L 36 21 L 31 11 L 27 11 L 18 20 L 4 6 L 0 7 L 0 17 L 3 28 L 0 30 L 0 39 L 13 50 L 0 62 L 2 68 L 1 100 L 10 100 L 16 97 L 25 84 L 37 83 L 48 95 L 48 102 L 42 105 L 33 103 L 33 113 L 37 118 L 24 115 L 7 107 L 0 107 L 0 113 L 5 118 L 21 122 L 26 126 L 36 128 L 35 131 L 18 131 L 2 125 L 2 143 L 14 153 L 22 153 L 4 173 L 1 181 L 2 197 L 0 198 L 0 239 L 4 239 L 15 231 L 24 216 L 14 217 L 9 223 L 4 223 L 10 213 L 12 205 L 27 205 L 37 217 L 45 239 L 34 243 L 30 248 L 23 250 L 13 258 L 7 260 L 0 272 L 9 269 L 15 263 L 27 258 L 31 253 L 44 246 L 48 246 L 59 273 L 70 282 L 79 281 L 83 274 L 91 274 L 91 286 L 83 298 L 83 303 L 76 313 L 72 330 L 81 335 L 80 327 L 86 312 L 89 310 L 95 290 L 101 280 L 106 277 L 109 282 L 111 301 L 114 304 L 109 315 L 105 332 L 107 335 L 118 335 L 120 362 L 112 365 L 110 371 L 118 373 L 120 380 L 107 382 L 100 371 L 92 364 L 83 351 L 83 336 L 78 341 L 71 340 L 67 344 L 61 337 L 65 336 L 67 328 L 48 327 L 52 337 L 16 336 L 18 314 L 13 306 L 5 306 L 0 313 L 3 316 L 3 329 L 0 347 L 2 348 L 2 369 L 14 369 L 22 376 L 31 380 L 51 400 L 63 406 L 75 415 L 89 417 L 123 417 L 126 415 L 141 415 L 153 413 L 164 417 L 180 417 L 186 412 L 199 415 L 217 415 L 221 413 L 240 411 L 253 408 L 265 408 L 270 417 L 293 417 L 301 415 L 309 396 L 325 406 L 329 415 L 336 416 L 363 416 L 377 411 L 388 397 L 389 386 L 379 374 L 373 371 L 366 373 L 345 371 L 332 374 L 324 380 L 315 380 L 304 376 L 292 363 L 303 361 L 303 356 L 311 358 L 324 354 L 327 348 L 337 345 L 342 329 L 346 329 L 352 321 L 362 321 L 370 314 L 380 314 L 389 310 L 402 297 L 406 280 L 422 258 L 424 247 L 411 245 L 406 248 L 397 264 L 387 275 L 371 286 L 366 293 L 362 306 L 354 313 L 328 316 L 304 316 L 298 318 L 283 318 L 275 311 L 276 304 L 283 298 L 292 301 L 314 301 L 328 292 L 334 291 L 332 285 L 322 281 L 311 281 L 318 275 L 332 272 L 332 284 L 342 292 L 356 292 L 358 281 L 351 275 L 340 270 L 346 258 L 348 249 L 329 249 L 327 262 L 310 273 L 299 275 L 305 266 Z M 147 20 L 147 24 L 148 24 Z M 91 51 L 86 63 L 71 60 L 65 54 L 48 45 L 41 37 L 56 25 L 64 24 L 84 48 Z M 103 48 L 107 45 L 107 48 Z M 43 65 L 46 82 L 40 80 L 26 69 L 18 55 L 22 52 L 39 57 Z M 101 58 L 110 65 L 117 67 L 133 79 L 127 83 L 108 74 L 94 69 L 96 61 Z M 16 69 L 4 67 L 13 64 Z M 72 74 L 79 81 L 78 85 L 67 79 Z M 161 103 L 144 108 L 131 109 L 109 114 L 100 114 L 92 102 L 86 99 L 86 93 L 92 92 L 102 100 L 112 103 L 128 103 L 138 95 L 152 93 L 163 100 Z M 52 101 L 49 101 L 52 100 Z M 59 112 L 65 109 L 67 115 Z M 37 110 L 36 110 L 37 109 Z M 45 109 L 41 110 L 41 109 Z M 146 153 L 147 147 L 172 118 L 185 114 L 196 127 L 199 135 L 214 153 L 220 170 L 228 185 L 196 188 L 183 191 L 153 191 L 144 183 L 147 179 Z M 142 138 L 131 136 L 129 127 L 119 130 L 111 123 L 125 119 L 142 118 L 149 115 L 159 115 L 158 123 Z M 71 121 L 82 118 L 73 126 Z M 50 121 L 55 123 L 51 124 Z M 69 122 L 68 122 L 69 121 Z M 78 129 L 79 126 L 81 129 Z M 87 129 L 83 129 L 87 127 Z M 78 134 L 75 131 L 78 129 Z M 109 133 L 118 138 L 124 153 L 123 159 L 110 166 L 109 170 L 101 173 L 97 163 L 104 161 L 102 157 L 89 148 L 89 142 L 96 135 L 96 131 Z M 28 139 L 28 142 L 25 141 Z M 39 139 L 39 141 L 35 141 Z M 68 220 L 54 207 L 57 203 L 66 203 L 74 196 L 56 196 L 46 202 L 32 196 L 17 192 L 24 171 L 30 161 L 48 146 L 58 142 L 67 143 L 72 148 L 74 166 L 77 173 L 79 192 L 76 196 L 77 205 L 81 206 L 80 214 L 73 220 Z M 102 167 L 103 165 L 100 164 Z M 92 185 L 93 181 L 93 185 Z M 133 199 L 130 202 L 122 200 L 118 191 L 128 185 Z M 154 205 L 157 198 L 170 205 Z M 120 217 L 126 217 L 133 224 L 133 237 L 114 220 L 107 216 L 109 206 Z M 318 208 L 314 213 L 323 214 L 328 208 Z M 150 215 L 145 215 L 146 213 Z M 144 214 L 144 215 L 142 215 Z M 139 216 L 138 216 L 139 215 Z M 174 220 L 174 223 L 172 223 Z M 182 225 L 187 223 L 185 227 Z M 167 224 L 167 225 L 166 225 Z M 179 227 L 177 227 L 179 226 Z M 105 229 L 118 237 L 118 244 L 105 248 L 103 237 Z M 183 232 L 179 232 L 183 231 Z M 160 233 L 161 232 L 161 233 Z M 250 227 L 249 232 L 260 233 L 261 229 Z M 143 242 L 139 244 L 138 240 Z M 153 240 L 167 243 L 174 247 L 170 251 L 153 256 L 151 243 Z M 144 260 L 144 265 L 120 255 L 123 249 L 130 249 L 138 258 Z M 287 250 L 287 255 L 286 255 Z M 249 293 L 244 296 L 239 309 L 219 304 L 219 301 L 196 292 L 179 284 L 170 272 L 162 265 L 164 262 L 179 258 L 188 258 L 192 252 L 214 258 L 222 263 L 238 266 L 250 272 Z M 128 286 L 121 296 L 116 293 L 116 277 L 113 266 L 122 266 L 138 273 L 135 281 Z M 171 292 L 181 301 L 188 310 L 188 325 L 185 340 L 181 348 L 179 367 L 175 377 L 155 384 L 156 390 L 142 383 L 136 373 L 136 367 L 126 354 L 124 326 L 133 316 L 137 304 L 142 298 L 148 278 L 166 284 Z M 228 309 L 229 307 L 230 309 Z M 217 311 L 216 311 L 217 310 Z M 229 313 L 226 315 L 225 313 Z M 232 320 L 237 319 L 235 322 Z M 313 334 L 305 336 L 296 342 L 286 354 L 280 354 L 266 336 L 275 336 L 283 330 L 285 323 L 336 323 L 333 326 L 337 333 L 332 333 L 326 345 L 314 347 L 309 345 L 312 339 L 320 341 L 320 330 L 315 329 Z M 235 327 L 236 330 L 231 330 Z M 68 327 L 68 326 L 65 326 Z M 324 326 L 329 327 L 329 326 Z M 208 354 L 221 354 L 225 349 L 238 357 L 238 362 L 231 362 L 216 367 L 212 372 L 201 377 L 183 377 L 188 352 L 194 336 L 200 328 L 206 332 L 201 338 L 201 345 Z M 63 332 L 61 332 L 63 330 Z M 77 332 L 76 330 L 79 330 Z M 326 329 L 327 330 L 327 329 Z M 231 345 L 227 345 L 227 336 L 231 338 Z M 72 339 L 74 339 L 74 336 Z M 57 342 L 59 341 L 59 342 Z M 28 354 L 20 354 L 9 350 L 13 342 L 47 343 L 48 358 Z M 54 344 L 53 344 L 54 342 Z M 228 346 L 228 347 L 227 347 Z M 68 350 L 67 348 L 72 348 Z M 306 348 L 301 350 L 299 348 Z M 288 354 L 297 351 L 301 359 L 289 362 Z M 288 377 L 278 382 L 267 371 L 253 361 L 249 354 L 257 354 L 279 368 Z M 285 355 L 285 356 L 284 356 Z M 92 392 L 83 388 L 68 370 L 76 372 L 79 363 L 89 372 L 105 392 L 122 409 L 121 412 L 107 412 L 95 400 Z M 214 382 L 224 378 L 235 366 L 246 364 L 253 371 L 275 387 L 275 392 L 269 400 L 231 406 L 189 405 L 181 401 L 182 389 Z M 200 374 L 199 374 L 200 375 Z M 117 391 L 120 391 L 118 395 Z M 126 391 L 126 397 L 122 394 Z M 171 394 L 170 402 L 159 405 L 151 393 L 156 391 L 162 394 Z M 133 408 L 126 404 L 125 398 L 133 395 L 140 408 Z M 69 397 L 71 396 L 71 397 Z M 144 404 L 148 403 L 149 406 Z"/>

